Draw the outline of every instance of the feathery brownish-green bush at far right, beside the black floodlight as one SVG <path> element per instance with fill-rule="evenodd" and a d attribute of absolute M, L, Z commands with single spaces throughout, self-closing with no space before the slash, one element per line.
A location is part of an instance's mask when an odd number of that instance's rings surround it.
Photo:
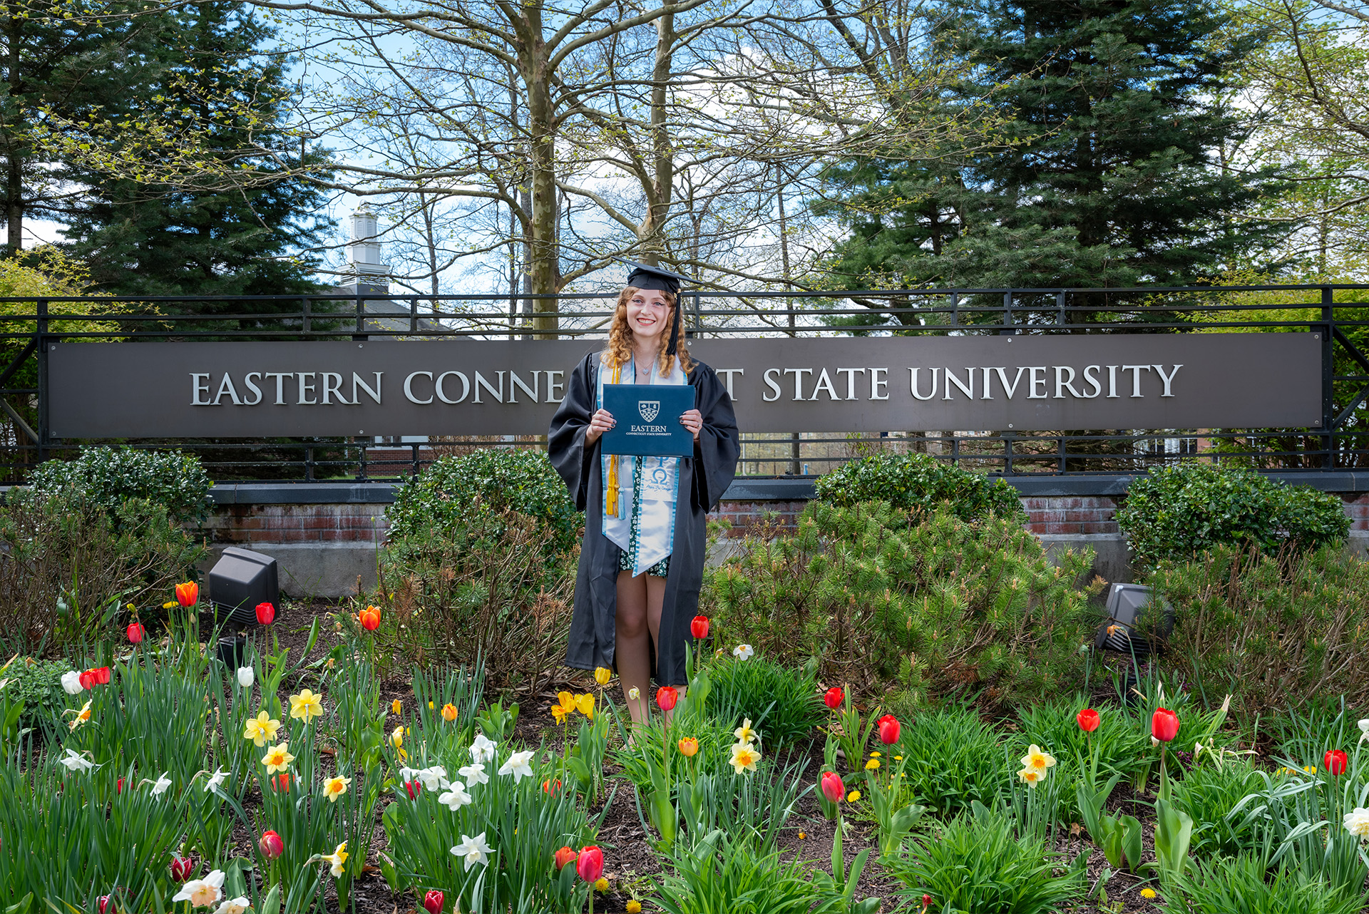
<path fill-rule="evenodd" d="M 1217 547 L 1149 579 L 1175 606 L 1165 665 L 1209 707 L 1266 721 L 1318 695 L 1369 706 L 1369 562 L 1327 546 L 1291 561 Z M 1320 757 L 1318 757 L 1320 758 Z"/>

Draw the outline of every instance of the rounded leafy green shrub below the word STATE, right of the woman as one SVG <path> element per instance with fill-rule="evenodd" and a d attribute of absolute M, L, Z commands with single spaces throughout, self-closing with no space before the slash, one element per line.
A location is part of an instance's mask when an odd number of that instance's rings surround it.
<path fill-rule="evenodd" d="M 947 502 L 961 520 L 986 514 L 1024 519 L 1017 490 L 1002 479 L 972 473 L 928 454 L 872 454 L 843 464 L 815 484 L 817 498 L 849 508 L 887 501 L 894 508 L 930 512 Z"/>

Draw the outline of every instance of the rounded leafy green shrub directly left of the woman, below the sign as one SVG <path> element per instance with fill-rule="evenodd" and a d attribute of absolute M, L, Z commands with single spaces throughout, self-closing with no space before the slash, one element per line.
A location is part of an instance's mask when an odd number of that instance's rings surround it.
<path fill-rule="evenodd" d="M 479 450 L 442 457 L 394 491 L 386 512 L 390 538 L 448 535 L 470 523 L 472 512 L 511 509 L 545 525 L 548 550 L 575 546 L 583 520 L 565 483 L 537 450 Z"/>

